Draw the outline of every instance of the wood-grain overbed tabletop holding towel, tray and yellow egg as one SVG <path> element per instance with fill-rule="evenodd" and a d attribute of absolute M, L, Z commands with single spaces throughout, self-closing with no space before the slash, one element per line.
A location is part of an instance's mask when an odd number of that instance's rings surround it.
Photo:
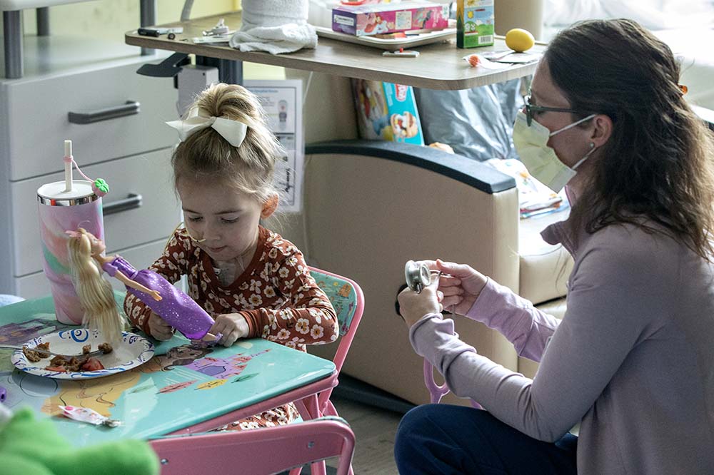
<path fill-rule="evenodd" d="M 391 83 L 406 84 L 429 89 L 458 90 L 486 86 L 487 84 L 508 81 L 527 76 L 535 71 L 535 63 L 513 65 L 499 71 L 484 68 L 472 68 L 463 56 L 486 51 L 504 51 L 505 41 L 496 37 L 496 44 L 481 48 L 456 48 L 455 40 L 416 46 L 418 58 L 388 58 L 382 56 L 379 48 L 347 43 L 334 39 L 319 38 L 315 49 L 301 49 L 294 53 L 272 55 L 263 52 L 241 52 L 229 46 L 193 44 L 194 37 L 202 36 L 203 30 L 210 30 L 219 19 L 225 19 L 226 25 L 238 29 L 241 24 L 240 12 L 229 12 L 185 22 L 176 22 L 159 26 L 183 26 L 183 34 L 170 40 L 166 35 L 160 37 L 141 36 L 128 31 L 124 38 L 126 44 L 156 48 L 180 53 L 193 53 L 212 58 L 233 59 L 251 63 L 271 64 L 285 68 L 316 71 L 319 73 L 346 76 L 351 78 L 373 79 Z M 543 51 L 545 45 L 537 44 L 533 51 Z"/>

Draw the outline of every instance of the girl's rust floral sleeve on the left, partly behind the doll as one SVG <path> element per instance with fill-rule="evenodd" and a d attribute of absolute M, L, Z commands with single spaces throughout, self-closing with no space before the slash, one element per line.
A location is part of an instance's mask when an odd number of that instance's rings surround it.
<path fill-rule="evenodd" d="M 188 269 L 189 246 L 190 242 L 188 242 L 186 233 L 183 230 L 176 231 L 166 244 L 164 253 L 149 267 L 149 270 L 162 275 L 172 284 L 177 282 Z M 129 292 L 124 298 L 124 312 L 132 325 L 151 335 L 149 331 L 151 309 Z"/>

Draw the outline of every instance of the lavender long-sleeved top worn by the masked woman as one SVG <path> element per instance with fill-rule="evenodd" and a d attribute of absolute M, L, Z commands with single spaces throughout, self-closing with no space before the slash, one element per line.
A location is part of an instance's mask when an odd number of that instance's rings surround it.
<path fill-rule="evenodd" d="M 661 233 L 610 225 L 577 248 L 562 321 L 489 280 L 467 317 L 540 362 L 531 380 L 426 315 L 412 345 L 506 424 L 555 441 L 577 422 L 579 474 L 714 474 L 714 266 Z M 549 341 L 550 340 L 550 341 Z"/>

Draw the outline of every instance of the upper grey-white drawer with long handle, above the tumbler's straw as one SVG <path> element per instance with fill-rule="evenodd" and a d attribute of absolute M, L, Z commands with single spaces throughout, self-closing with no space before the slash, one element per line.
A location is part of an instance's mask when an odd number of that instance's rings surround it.
<path fill-rule="evenodd" d="M 10 180 L 63 169 L 64 141 L 74 145 L 79 166 L 166 148 L 177 141 L 165 121 L 178 118 L 171 78 L 140 76 L 141 60 L 123 66 L 6 83 L 6 145 Z M 68 113 L 96 113 L 140 103 L 129 116 L 76 124 Z M 0 101 L 0 104 L 4 101 Z M 84 167 L 83 167 L 84 169 Z"/>

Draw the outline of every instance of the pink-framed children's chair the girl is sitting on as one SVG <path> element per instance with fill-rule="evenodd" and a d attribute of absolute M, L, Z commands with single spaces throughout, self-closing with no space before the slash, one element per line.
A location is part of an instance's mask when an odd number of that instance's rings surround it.
<path fill-rule="evenodd" d="M 310 267 L 310 273 L 320 288 L 329 297 L 337 314 L 340 327 L 340 339 L 333 362 L 336 371 L 339 373 L 362 318 L 362 312 L 364 310 L 362 289 L 357 285 L 357 282 L 326 270 Z M 331 394 L 332 389 L 328 389 L 320 394 L 313 394 L 310 397 L 296 401 L 295 405 L 301 417 L 308 420 L 324 416 L 338 416 L 334 405 L 330 401 Z M 301 471 L 302 467 L 297 467 L 291 470 L 290 475 L 300 475 Z M 320 461 L 316 464 L 312 464 L 311 474 L 325 475 L 325 462 Z M 352 466 L 349 467 L 349 474 L 353 474 Z"/>

